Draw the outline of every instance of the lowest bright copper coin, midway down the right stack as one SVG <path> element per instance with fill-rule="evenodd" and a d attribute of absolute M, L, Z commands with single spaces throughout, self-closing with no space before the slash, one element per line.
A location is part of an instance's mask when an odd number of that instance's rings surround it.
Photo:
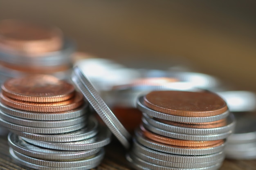
<path fill-rule="evenodd" d="M 186 140 L 180 140 L 180 139 L 173 139 L 169 137 L 163 137 L 160 135 L 157 135 L 155 133 L 152 133 L 148 130 L 146 130 L 142 125 L 139 126 L 141 132 L 143 135 L 153 141 L 160 142 L 162 144 L 167 145 L 173 145 L 173 146 L 182 146 L 182 147 L 205 147 L 205 146 L 212 146 L 219 144 L 223 140 L 215 140 L 215 141 L 186 141 Z"/>

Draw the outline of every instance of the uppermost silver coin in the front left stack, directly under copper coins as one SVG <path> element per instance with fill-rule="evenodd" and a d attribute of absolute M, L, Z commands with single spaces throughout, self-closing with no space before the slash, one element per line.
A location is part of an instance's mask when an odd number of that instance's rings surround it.
<path fill-rule="evenodd" d="M 67 120 L 80 117 L 88 113 L 88 102 L 85 102 L 83 106 L 75 110 L 70 110 L 67 112 L 58 112 L 58 113 L 36 113 L 36 112 L 27 112 L 9 108 L 0 103 L 0 110 L 7 115 L 14 117 L 20 117 L 23 119 L 31 120 L 41 120 L 41 121 L 57 121 L 57 120 Z"/>

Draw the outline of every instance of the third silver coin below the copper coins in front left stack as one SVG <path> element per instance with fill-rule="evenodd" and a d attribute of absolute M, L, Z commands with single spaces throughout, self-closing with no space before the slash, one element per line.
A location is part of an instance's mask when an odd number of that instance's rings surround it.
<path fill-rule="evenodd" d="M 34 128 L 29 126 L 12 124 L 8 121 L 4 121 L 2 118 L 0 118 L 0 124 L 12 130 L 28 132 L 28 133 L 39 133 L 39 134 L 59 134 L 59 133 L 72 132 L 75 130 L 79 130 L 85 126 L 85 124 L 80 123 L 74 126 L 63 127 L 63 128 Z"/>

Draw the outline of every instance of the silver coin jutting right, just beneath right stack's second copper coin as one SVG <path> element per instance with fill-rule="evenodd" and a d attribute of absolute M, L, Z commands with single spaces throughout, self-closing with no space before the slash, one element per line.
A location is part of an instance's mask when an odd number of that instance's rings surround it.
<path fill-rule="evenodd" d="M 179 126 L 173 126 L 164 124 L 162 122 L 156 121 L 153 118 L 149 117 L 146 113 L 143 113 L 144 119 L 152 126 L 155 126 L 156 128 L 166 130 L 168 132 L 174 132 L 174 133 L 182 133 L 182 134 L 188 134 L 188 135 L 207 135 L 207 134 L 218 134 L 218 133 L 224 133 L 228 132 L 230 130 L 234 130 L 234 126 L 236 124 L 236 121 L 234 119 L 234 115 L 229 115 L 227 117 L 227 125 L 218 127 L 218 128 L 184 128 Z"/>

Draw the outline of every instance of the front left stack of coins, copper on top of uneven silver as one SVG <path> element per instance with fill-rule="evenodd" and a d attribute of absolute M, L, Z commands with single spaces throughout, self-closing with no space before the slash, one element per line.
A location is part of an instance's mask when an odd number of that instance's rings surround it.
<path fill-rule="evenodd" d="M 40 170 L 84 170 L 103 159 L 110 131 L 88 117 L 74 86 L 51 75 L 9 79 L 1 86 L 0 123 L 9 128 L 10 154 Z"/>

